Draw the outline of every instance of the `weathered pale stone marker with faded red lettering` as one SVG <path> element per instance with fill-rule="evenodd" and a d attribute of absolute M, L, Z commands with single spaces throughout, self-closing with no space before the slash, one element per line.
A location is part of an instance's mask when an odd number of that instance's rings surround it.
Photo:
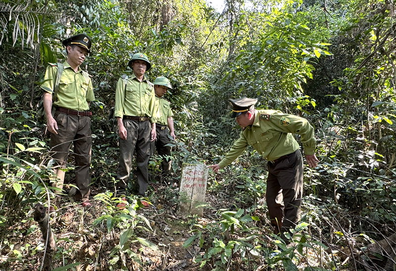
<path fill-rule="evenodd" d="M 203 164 L 183 164 L 180 180 L 180 211 L 183 213 L 203 215 L 205 203 L 208 168 Z"/>

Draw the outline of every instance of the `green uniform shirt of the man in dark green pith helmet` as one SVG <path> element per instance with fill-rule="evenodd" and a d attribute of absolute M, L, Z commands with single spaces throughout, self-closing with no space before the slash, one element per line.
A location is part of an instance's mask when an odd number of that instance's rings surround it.
<path fill-rule="evenodd" d="M 115 90 L 114 117 L 122 118 L 124 115 L 132 117 L 149 117 L 150 123 L 155 123 L 154 118 L 155 93 L 153 85 L 145 77 L 142 82 L 135 74 L 128 77 L 125 87 L 124 80 L 120 78 Z"/>

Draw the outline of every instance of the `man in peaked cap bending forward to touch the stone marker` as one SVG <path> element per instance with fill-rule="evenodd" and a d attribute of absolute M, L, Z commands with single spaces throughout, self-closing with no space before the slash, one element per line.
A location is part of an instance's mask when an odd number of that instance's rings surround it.
<path fill-rule="evenodd" d="M 285 236 L 300 219 L 303 164 L 299 145 L 293 134 L 301 135 L 309 167 L 316 167 L 314 130 L 304 118 L 278 110 L 256 110 L 257 99 L 229 99 L 232 118 L 236 118 L 242 133 L 220 163 L 211 165 L 214 172 L 231 164 L 251 145 L 268 161 L 266 201 L 274 233 Z M 283 202 L 282 202 L 283 201 Z"/>

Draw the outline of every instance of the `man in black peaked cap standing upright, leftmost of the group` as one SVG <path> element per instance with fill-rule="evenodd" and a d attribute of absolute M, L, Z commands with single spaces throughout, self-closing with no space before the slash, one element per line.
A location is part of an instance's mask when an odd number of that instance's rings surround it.
<path fill-rule="evenodd" d="M 61 76 L 56 82 L 58 64 L 49 63 L 44 83 L 41 88 L 45 91 L 43 96 L 44 110 L 47 117 L 47 128 L 51 133 L 49 146 L 53 152 L 52 158 L 57 163 L 55 173 L 59 180 L 55 187 L 62 189 L 71 142 L 74 144 L 75 174 L 79 191 L 76 200 L 81 200 L 83 206 L 91 205 L 89 202 L 91 175 L 91 116 L 89 104 L 95 100 L 94 90 L 90 76 L 80 65 L 90 53 L 92 45 L 90 37 L 78 34 L 62 42 L 66 46 L 67 59 L 63 64 Z M 57 85 L 57 86 L 56 86 Z M 54 88 L 56 96 L 52 101 Z M 51 114 L 53 105 L 56 108 L 54 116 Z"/>

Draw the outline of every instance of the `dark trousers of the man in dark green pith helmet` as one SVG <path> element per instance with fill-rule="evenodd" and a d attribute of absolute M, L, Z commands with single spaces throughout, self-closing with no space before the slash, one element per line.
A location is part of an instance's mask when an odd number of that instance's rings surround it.
<path fill-rule="evenodd" d="M 117 170 L 117 190 L 119 194 L 126 193 L 132 169 L 132 158 L 136 148 L 138 195 L 146 196 L 151 125 L 149 121 L 123 120 L 123 123 L 127 130 L 127 139 L 120 138 L 119 140 L 120 162 Z"/>

